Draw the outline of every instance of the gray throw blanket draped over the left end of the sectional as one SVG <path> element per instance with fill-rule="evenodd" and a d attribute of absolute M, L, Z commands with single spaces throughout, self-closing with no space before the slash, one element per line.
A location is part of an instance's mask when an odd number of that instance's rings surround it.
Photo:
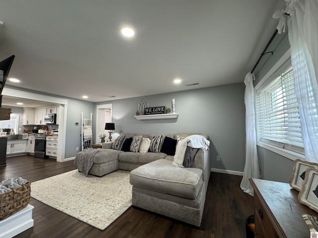
<path fill-rule="evenodd" d="M 98 149 L 87 148 L 83 149 L 76 155 L 74 164 L 78 166 L 79 172 L 82 172 L 85 177 L 88 175 L 88 171 L 93 166 L 93 158 L 98 151 Z"/>

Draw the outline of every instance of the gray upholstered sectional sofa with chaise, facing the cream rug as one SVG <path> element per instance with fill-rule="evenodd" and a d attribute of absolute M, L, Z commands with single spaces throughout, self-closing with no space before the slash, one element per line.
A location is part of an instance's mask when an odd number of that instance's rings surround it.
<path fill-rule="evenodd" d="M 126 135 L 127 139 L 136 134 L 121 135 Z M 211 171 L 209 150 L 196 149 L 191 168 L 172 166 L 174 156 L 160 152 L 165 137 L 175 139 L 189 135 L 192 134 L 163 135 L 157 153 L 114 150 L 113 142 L 104 142 L 93 157 L 88 173 L 103 176 L 118 169 L 131 171 L 133 206 L 199 227 Z M 200 135 L 209 140 L 208 135 Z M 143 135 L 143 138 L 151 136 Z"/>

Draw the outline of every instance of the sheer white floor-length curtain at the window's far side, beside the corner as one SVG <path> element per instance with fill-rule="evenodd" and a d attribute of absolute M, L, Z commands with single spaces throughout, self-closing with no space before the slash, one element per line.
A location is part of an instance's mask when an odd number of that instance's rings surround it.
<path fill-rule="evenodd" d="M 256 129 L 255 129 L 255 105 L 254 105 L 254 87 L 253 87 L 254 75 L 249 72 L 245 76 L 245 132 L 246 132 L 246 143 L 245 143 L 245 167 L 243 179 L 240 182 L 241 189 L 250 194 L 254 195 L 252 186 L 248 179 L 256 178 L 259 179 L 258 169 L 258 158 L 256 149 Z"/>

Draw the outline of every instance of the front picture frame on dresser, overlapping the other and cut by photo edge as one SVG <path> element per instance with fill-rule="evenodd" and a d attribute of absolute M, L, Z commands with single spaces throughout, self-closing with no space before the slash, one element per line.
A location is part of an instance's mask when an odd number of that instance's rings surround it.
<path fill-rule="evenodd" d="M 308 168 L 298 200 L 318 212 L 318 170 Z"/>

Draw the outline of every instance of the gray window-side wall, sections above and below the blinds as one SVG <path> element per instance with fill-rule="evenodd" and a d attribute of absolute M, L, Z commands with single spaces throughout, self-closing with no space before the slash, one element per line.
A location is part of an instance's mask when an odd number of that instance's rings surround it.
<path fill-rule="evenodd" d="M 254 86 L 265 76 L 265 74 L 287 52 L 289 48 L 290 44 L 287 32 L 284 34 L 277 34 L 267 50 L 267 52 L 273 51 L 273 56 L 271 54 L 266 54 L 254 71 L 256 78 Z M 289 181 L 294 161 L 260 146 L 257 146 L 257 154 L 262 179 L 281 182 Z"/>

